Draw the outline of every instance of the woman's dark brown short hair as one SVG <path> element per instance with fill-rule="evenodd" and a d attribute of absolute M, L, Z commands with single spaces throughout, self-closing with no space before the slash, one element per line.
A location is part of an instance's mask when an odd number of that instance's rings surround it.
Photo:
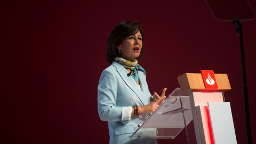
<path fill-rule="evenodd" d="M 142 42 L 143 42 L 143 31 L 140 27 L 139 22 L 123 21 L 113 28 L 113 30 L 109 34 L 107 41 L 106 41 L 107 42 L 107 50 L 106 50 L 107 61 L 109 63 L 112 63 L 114 61 L 115 57 L 121 57 L 121 53 L 119 53 L 117 46 L 122 44 L 122 42 L 125 38 L 127 38 L 131 35 L 137 34 L 138 31 L 140 31 L 140 34 L 142 36 Z M 135 58 L 135 59 L 140 60 L 143 52 L 144 52 L 144 46 L 142 44 L 140 55 L 138 58 Z"/>

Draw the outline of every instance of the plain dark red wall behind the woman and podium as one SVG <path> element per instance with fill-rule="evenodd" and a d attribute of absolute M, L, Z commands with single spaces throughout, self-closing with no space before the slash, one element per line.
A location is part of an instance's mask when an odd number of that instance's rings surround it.
<path fill-rule="evenodd" d="M 249 2 L 256 10 L 256 2 Z M 11 1 L 0 10 L 1 143 L 108 143 L 108 124 L 98 116 L 97 86 L 109 66 L 105 40 L 125 20 L 142 23 L 145 53 L 139 64 L 147 71 L 151 93 L 167 87 L 169 95 L 184 73 L 228 74 L 232 90 L 225 98 L 237 142 L 246 142 L 239 36 L 232 22 L 213 17 L 205 1 Z M 256 142 L 256 20 L 243 26 Z M 186 143 L 185 131 L 158 142 Z"/>

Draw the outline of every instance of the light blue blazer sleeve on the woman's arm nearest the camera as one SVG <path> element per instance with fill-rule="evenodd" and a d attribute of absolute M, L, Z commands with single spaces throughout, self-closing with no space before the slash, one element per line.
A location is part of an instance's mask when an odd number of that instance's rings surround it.
<path fill-rule="evenodd" d="M 122 107 L 116 106 L 116 73 L 105 69 L 98 85 L 98 112 L 102 121 L 117 122 L 122 120 Z"/>

